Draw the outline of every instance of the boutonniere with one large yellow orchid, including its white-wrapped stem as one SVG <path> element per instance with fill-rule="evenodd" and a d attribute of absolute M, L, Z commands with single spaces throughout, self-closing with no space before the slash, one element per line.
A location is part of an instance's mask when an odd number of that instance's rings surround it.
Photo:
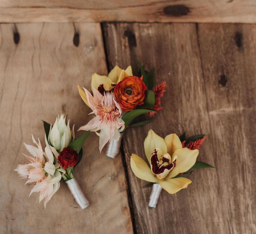
<path fill-rule="evenodd" d="M 177 193 L 191 184 L 192 181 L 186 177 L 194 169 L 213 167 L 196 160 L 205 138 L 205 134 L 186 139 L 185 134 L 178 137 L 173 133 L 163 139 L 149 130 L 144 140 L 149 165 L 136 154 L 130 157 L 130 166 L 136 177 L 154 183 L 149 208 L 156 207 L 162 188 L 170 194 Z"/>

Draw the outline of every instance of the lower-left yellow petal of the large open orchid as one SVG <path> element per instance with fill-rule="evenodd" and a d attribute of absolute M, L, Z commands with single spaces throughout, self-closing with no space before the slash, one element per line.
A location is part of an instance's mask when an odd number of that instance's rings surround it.
<path fill-rule="evenodd" d="M 132 154 L 130 158 L 130 165 L 136 177 L 153 183 L 157 181 L 157 178 L 151 172 L 147 163 L 136 154 Z"/>

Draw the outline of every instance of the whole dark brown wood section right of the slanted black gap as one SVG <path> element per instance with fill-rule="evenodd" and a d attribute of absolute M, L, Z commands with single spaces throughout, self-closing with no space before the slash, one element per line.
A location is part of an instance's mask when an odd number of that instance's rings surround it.
<path fill-rule="evenodd" d="M 255 233 L 255 25 L 107 23 L 103 32 L 110 68 L 132 64 L 137 74 L 137 56 L 155 67 L 156 83 L 167 81 L 154 122 L 123 137 L 135 231 Z M 148 182 L 129 166 L 131 153 L 146 159 L 149 129 L 208 132 L 198 159 L 216 166 L 194 171 L 193 183 L 174 195 L 163 190 L 155 209 Z"/>

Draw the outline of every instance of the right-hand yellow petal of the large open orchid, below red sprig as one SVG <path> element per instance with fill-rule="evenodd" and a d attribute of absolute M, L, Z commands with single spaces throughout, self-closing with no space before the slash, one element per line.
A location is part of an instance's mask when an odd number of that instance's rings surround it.
<path fill-rule="evenodd" d="M 166 178 L 173 178 L 178 173 L 188 171 L 196 162 L 199 150 L 190 150 L 188 148 L 177 149 L 174 156 L 177 156 L 176 166 L 170 171 Z"/>

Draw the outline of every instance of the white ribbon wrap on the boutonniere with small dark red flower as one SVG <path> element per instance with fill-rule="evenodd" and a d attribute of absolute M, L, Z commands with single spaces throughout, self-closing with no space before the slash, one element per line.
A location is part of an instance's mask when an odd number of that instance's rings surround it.
<path fill-rule="evenodd" d="M 81 187 L 78 184 L 78 181 L 76 181 L 76 179 L 73 178 L 73 179 L 67 180 L 66 183 L 73 197 L 78 203 L 78 205 L 82 209 L 85 209 L 87 206 L 89 206 L 89 201 L 85 198 L 85 195 L 83 195 L 83 192 L 81 190 Z"/>

